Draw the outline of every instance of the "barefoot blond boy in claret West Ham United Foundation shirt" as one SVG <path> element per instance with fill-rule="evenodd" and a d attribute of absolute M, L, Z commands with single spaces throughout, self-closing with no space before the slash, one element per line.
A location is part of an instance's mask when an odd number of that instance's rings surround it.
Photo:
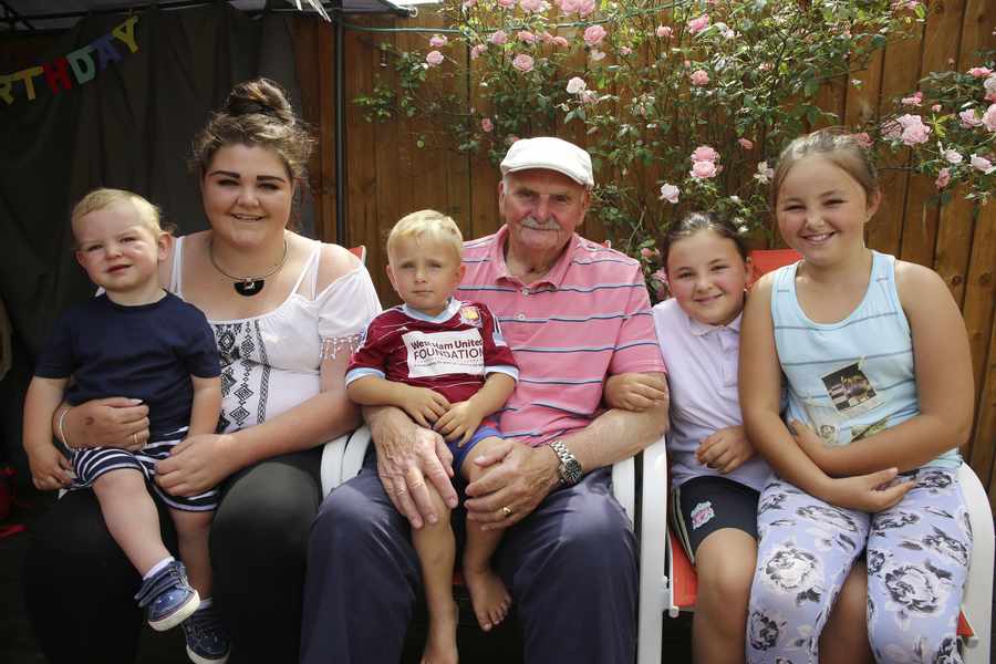
<path fill-rule="evenodd" d="M 434 210 L 413 212 L 394 226 L 387 237 L 387 277 L 405 303 L 370 323 L 345 380 L 353 402 L 403 408 L 443 435 L 454 470 L 474 481 L 480 468 L 473 460 L 501 439 L 494 422 L 481 422 L 505 405 L 518 369 L 491 312 L 453 297 L 465 272 L 461 246 L 457 225 Z M 433 498 L 443 517 L 413 530 L 412 539 L 429 613 L 423 662 L 438 664 L 457 660 L 455 543 L 449 510 L 438 495 Z M 464 579 L 485 631 L 501 622 L 511 601 L 489 564 L 500 538 L 499 530 L 467 525 Z"/>

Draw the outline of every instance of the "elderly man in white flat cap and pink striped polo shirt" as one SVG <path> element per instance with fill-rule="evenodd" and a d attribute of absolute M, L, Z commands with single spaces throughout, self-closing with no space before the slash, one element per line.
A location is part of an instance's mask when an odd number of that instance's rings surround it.
<path fill-rule="evenodd" d="M 522 622 L 526 661 L 631 664 L 636 546 L 610 466 L 658 439 L 664 365 L 640 266 L 574 231 L 591 158 L 559 138 L 515 143 L 501 163 L 505 226 L 467 242 L 460 299 L 486 303 L 519 364 L 504 446 L 466 487 L 467 519 L 502 528 L 494 564 Z M 602 408 L 611 375 L 637 374 L 660 407 Z M 333 491 L 311 536 L 302 662 L 396 664 L 419 592 L 408 529 L 450 507 L 449 452 L 396 408 L 367 409 L 376 455 Z"/>

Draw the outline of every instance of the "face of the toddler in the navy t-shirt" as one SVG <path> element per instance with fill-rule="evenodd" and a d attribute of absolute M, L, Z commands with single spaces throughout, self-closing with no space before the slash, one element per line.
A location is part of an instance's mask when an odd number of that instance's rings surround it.
<path fill-rule="evenodd" d="M 134 205 L 120 200 L 73 221 L 76 260 L 115 301 L 142 303 L 159 293 L 158 264 L 168 236 L 152 228 Z"/>

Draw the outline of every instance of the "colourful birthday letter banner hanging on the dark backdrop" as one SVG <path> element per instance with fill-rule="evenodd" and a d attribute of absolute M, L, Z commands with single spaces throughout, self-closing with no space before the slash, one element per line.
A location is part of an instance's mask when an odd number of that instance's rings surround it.
<path fill-rule="evenodd" d="M 135 23 L 137 22 L 138 17 L 131 17 L 107 34 L 98 37 L 82 49 L 66 53 L 63 58 L 56 58 L 41 66 L 32 66 L 0 76 L 0 100 L 3 100 L 8 106 L 21 98 L 33 102 L 37 96 L 34 79 L 41 75 L 44 75 L 52 94 L 72 90 L 73 80 L 76 85 L 93 81 L 97 70 L 104 71 L 108 64 L 118 62 L 123 58 L 121 44 L 127 46 L 132 53 L 138 51 L 138 43 L 135 41 Z M 96 62 L 94 62 L 94 56 L 96 56 Z"/>

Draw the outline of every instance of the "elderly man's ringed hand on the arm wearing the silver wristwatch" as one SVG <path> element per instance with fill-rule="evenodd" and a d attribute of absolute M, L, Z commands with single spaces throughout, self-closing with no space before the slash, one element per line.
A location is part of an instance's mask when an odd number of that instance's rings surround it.
<path fill-rule="evenodd" d="M 467 518 L 484 530 L 508 528 L 526 518 L 557 487 L 560 461 L 548 445 L 506 439 L 474 459 L 486 468 L 467 486 Z M 506 508 L 508 508 L 506 510 Z"/>

